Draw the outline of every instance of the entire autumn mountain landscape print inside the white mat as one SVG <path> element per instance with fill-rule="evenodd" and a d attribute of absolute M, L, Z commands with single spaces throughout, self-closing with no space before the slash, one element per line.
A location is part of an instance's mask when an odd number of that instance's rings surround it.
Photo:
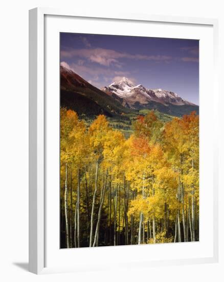
<path fill-rule="evenodd" d="M 199 240 L 199 41 L 60 33 L 60 248 Z"/>

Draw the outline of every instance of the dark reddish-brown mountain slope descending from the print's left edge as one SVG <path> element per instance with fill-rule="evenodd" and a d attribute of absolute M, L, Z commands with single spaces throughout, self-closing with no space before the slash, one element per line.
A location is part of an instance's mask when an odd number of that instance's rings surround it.
<path fill-rule="evenodd" d="M 60 66 L 60 103 L 76 111 L 79 115 L 93 117 L 99 114 L 120 116 L 134 113 L 132 109 L 123 107 L 121 101 L 89 84 L 81 76 L 70 69 Z"/>

